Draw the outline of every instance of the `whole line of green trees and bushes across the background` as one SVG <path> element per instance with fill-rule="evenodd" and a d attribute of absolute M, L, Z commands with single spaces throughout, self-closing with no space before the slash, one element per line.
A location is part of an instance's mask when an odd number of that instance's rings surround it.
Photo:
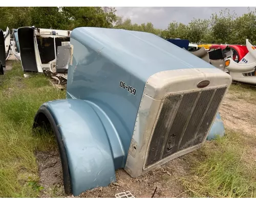
<path fill-rule="evenodd" d="M 151 22 L 137 24 L 116 15 L 114 7 L 1 7 L 0 28 L 5 30 L 35 25 L 37 28 L 73 30 L 77 27 L 116 28 L 143 31 L 162 38 L 187 39 L 195 43 L 256 44 L 256 10 L 237 16 L 228 9 L 209 19 L 193 19 L 188 24 L 170 22 L 165 30 Z M 178 20 L 178 19 L 177 19 Z"/>

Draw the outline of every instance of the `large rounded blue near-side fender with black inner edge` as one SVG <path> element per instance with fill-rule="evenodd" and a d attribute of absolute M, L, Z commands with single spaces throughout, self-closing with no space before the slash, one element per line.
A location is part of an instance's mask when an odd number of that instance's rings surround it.
<path fill-rule="evenodd" d="M 42 115 L 51 123 L 57 138 L 66 193 L 70 193 L 69 184 L 73 195 L 77 196 L 116 181 L 108 135 L 97 113 L 86 101 L 49 101 L 37 111 L 33 127 Z"/>

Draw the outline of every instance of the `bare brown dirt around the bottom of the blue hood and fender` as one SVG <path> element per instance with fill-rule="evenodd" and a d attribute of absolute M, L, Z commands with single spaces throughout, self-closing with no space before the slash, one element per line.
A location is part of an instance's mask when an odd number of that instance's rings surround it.
<path fill-rule="evenodd" d="M 58 152 L 39 152 L 37 161 L 40 174 L 40 185 L 45 187 L 41 197 L 51 196 L 52 191 L 60 197 L 67 196 L 63 191 L 61 162 Z M 117 170 L 117 182 L 108 187 L 100 187 L 80 194 L 79 197 L 115 197 L 116 193 L 130 191 L 135 197 L 151 197 L 155 188 L 157 192 L 154 197 L 176 197 L 183 193 L 183 188 L 177 177 L 186 173 L 188 160 L 178 158 L 143 176 L 133 179 L 124 170 Z M 181 197 L 179 196 L 179 197 Z"/>

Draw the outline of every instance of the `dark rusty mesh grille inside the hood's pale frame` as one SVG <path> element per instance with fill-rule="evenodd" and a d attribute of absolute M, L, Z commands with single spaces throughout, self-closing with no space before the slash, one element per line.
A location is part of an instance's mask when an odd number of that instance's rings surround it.
<path fill-rule="evenodd" d="M 145 167 L 203 142 L 226 87 L 165 98 Z"/>

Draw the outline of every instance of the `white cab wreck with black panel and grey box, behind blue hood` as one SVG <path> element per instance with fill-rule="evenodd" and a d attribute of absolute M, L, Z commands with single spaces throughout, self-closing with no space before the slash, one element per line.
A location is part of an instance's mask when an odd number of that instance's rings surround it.
<path fill-rule="evenodd" d="M 65 30 L 18 28 L 20 61 L 24 72 L 46 73 L 58 84 L 67 84 L 69 59 L 62 53 L 71 53 L 72 48 L 65 44 L 70 41 L 70 34 L 71 31 Z M 58 60 L 59 53 L 61 62 Z"/>

